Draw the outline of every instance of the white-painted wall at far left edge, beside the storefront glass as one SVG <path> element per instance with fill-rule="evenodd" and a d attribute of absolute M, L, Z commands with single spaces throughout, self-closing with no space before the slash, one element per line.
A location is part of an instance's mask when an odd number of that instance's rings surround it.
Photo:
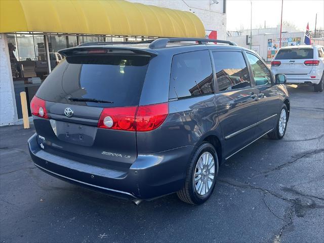
<path fill-rule="evenodd" d="M 0 126 L 18 120 L 7 38 L 0 34 Z"/>

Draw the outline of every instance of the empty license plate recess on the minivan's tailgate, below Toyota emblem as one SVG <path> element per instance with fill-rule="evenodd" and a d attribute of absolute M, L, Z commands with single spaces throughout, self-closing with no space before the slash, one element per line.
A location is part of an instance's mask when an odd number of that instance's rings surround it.
<path fill-rule="evenodd" d="M 58 120 L 51 120 L 51 126 L 56 137 L 64 142 L 92 146 L 96 138 L 96 127 Z"/>

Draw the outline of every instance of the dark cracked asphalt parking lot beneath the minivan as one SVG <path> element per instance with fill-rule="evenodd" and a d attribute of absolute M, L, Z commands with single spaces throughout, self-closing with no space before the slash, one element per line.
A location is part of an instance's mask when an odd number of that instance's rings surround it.
<path fill-rule="evenodd" d="M 324 93 L 289 91 L 284 139 L 226 161 L 201 206 L 175 194 L 135 206 L 60 181 L 33 165 L 33 128 L 0 128 L 0 242 L 323 242 Z"/>

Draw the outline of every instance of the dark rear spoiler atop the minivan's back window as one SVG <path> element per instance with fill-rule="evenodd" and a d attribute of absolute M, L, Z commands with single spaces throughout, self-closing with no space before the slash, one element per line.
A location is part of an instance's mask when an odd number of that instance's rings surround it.
<path fill-rule="evenodd" d="M 157 52 L 149 49 L 140 49 L 132 47 L 98 47 L 98 46 L 82 46 L 66 48 L 58 51 L 59 54 L 69 56 L 81 56 L 81 55 L 140 55 L 151 56 L 157 55 Z"/>

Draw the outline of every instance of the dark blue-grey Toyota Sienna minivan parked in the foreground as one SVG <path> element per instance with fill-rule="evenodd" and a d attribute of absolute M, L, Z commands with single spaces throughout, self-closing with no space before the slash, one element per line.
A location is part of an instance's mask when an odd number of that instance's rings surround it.
<path fill-rule="evenodd" d="M 31 102 L 42 171 L 136 204 L 176 192 L 201 204 L 219 166 L 264 135 L 284 137 L 286 76 L 228 41 L 92 43 L 65 58 Z"/>

